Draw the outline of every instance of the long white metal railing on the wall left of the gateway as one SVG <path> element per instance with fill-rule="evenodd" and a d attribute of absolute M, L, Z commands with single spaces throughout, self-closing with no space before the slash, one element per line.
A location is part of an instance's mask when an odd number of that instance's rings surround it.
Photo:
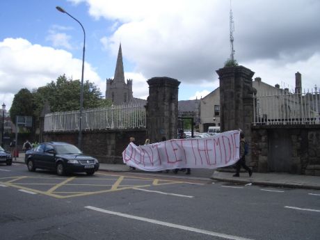
<path fill-rule="evenodd" d="M 97 109 L 83 109 L 82 129 L 130 129 L 145 127 L 143 104 L 125 104 Z M 48 113 L 45 131 L 79 130 L 79 111 Z"/>

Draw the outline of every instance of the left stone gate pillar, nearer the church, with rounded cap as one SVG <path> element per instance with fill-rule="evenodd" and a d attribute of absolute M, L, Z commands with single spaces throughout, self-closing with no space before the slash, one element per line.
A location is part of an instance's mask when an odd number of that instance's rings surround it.
<path fill-rule="evenodd" d="M 177 138 L 178 90 L 180 82 L 170 77 L 153 77 L 147 80 L 146 120 L 150 143 Z"/>

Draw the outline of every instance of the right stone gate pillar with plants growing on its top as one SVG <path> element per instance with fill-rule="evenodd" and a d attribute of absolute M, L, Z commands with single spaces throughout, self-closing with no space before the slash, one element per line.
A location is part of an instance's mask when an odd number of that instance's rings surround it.
<path fill-rule="evenodd" d="M 221 131 L 242 129 L 250 141 L 255 72 L 243 66 L 223 67 L 216 72 L 220 79 Z"/>

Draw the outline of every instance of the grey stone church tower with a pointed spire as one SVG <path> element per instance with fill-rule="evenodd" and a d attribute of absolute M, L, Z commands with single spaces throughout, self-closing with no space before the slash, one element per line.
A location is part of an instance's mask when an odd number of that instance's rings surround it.
<path fill-rule="evenodd" d="M 111 99 L 113 104 L 127 104 L 134 99 L 132 93 L 132 79 L 125 83 L 125 71 L 123 70 L 121 44 L 115 65 L 114 79 L 106 79 L 106 99 Z"/>

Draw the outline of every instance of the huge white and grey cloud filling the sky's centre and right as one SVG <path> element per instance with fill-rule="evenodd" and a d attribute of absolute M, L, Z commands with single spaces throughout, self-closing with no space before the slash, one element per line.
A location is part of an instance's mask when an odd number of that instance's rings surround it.
<path fill-rule="evenodd" d="M 83 2 L 96 19 L 119 24 L 113 35 L 104 38 L 104 47 L 115 53 L 121 40 L 124 56 L 146 78 L 211 83 L 230 56 L 229 1 Z M 270 84 L 283 78 L 294 85 L 297 71 L 305 76 L 307 86 L 319 82 L 319 4 L 313 0 L 232 1 L 239 64 Z"/>

